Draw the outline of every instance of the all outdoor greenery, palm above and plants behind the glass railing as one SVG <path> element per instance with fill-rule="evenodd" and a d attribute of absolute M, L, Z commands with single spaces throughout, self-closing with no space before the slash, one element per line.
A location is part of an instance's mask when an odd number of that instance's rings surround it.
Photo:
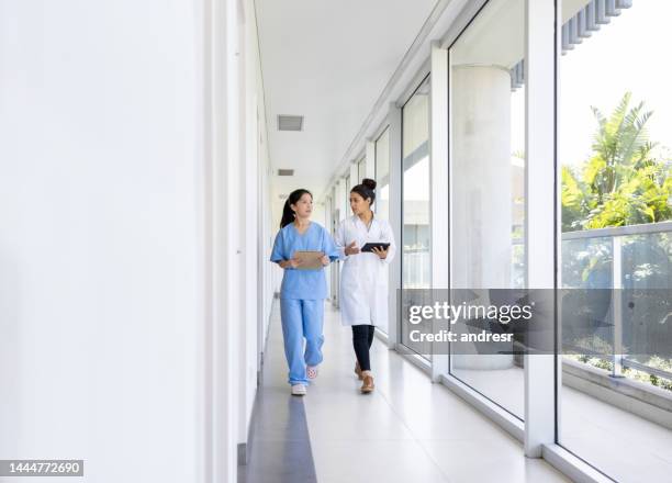
<path fill-rule="evenodd" d="M 604 115 L 591 108 L 596 121 L 592 155 L 579 167 L 562 167 L 562 231 L 626 226 L 672 220 L 672 156 L 669 149 L 649 139 L 647 123 L 653 115 L 645 103 L 631 105 L 626 92 L 616 109 Z M 672 236 L 657 233 L 620 238 L 624 289 L 672 287 Z M 609 289 L 614 262 L 608 237 L 565 240 L 562 244 L 564 287 Z M 587 294 L 591 294 L 590 296 Z M 612 370 L 611 327 L 594 327 L 590 337 L 581 337 L 586 316 L 607 319 L 611 300 L 597 300 L 600 292 L 576 292 L 589 300 L 570 300 L 565 305 L 563 329 L 565 344 L 580 355 L 568 356 L 593 367 Z M 624 308 L 624 342 L 632 345 L 625 353 L 668 355 L 672 328 L 668 321 L 670 300 L 664 292 L 640 291 L 638 311 Z M 661 299 L 662 296 L 662 299 Z M 590 307 L 590 314 L 576 313 Z M 582 318 L 583 317 L 583 318 Z M 579 332 L 572 330 L 576 322 Z M 583 321 L 583 322 L 582 322 Z M 642 321 L 647 323 L 642 324 Z M 603 339 L 603 337 L 605 339 Z M 667 346 L 667 347 L 663 347 Z M 582 351 L 585 350 L 585 352 Z M 631 352 L 630 352 L 631 350 Z M 586 355 L 587 353 L 587 355 Z M 672 373 L 672 359 L 649 356 L 639 360 L 651 368 Z M 624 368 L 624 375 L 672 391 L 672 380 L 645 371 Z"/>

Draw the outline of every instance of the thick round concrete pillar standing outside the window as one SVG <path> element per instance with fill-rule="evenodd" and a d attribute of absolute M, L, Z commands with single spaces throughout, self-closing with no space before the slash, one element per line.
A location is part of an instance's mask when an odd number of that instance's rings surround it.
<path fill-rule="evenodd" d="M 504 67 L 458 65 L 451 80 L 452 288 L 511 288 L 511 77 Z M 478 303 L 489 303 L 486 291 Z M 453 369 L 513 366 L 512 356 L 458 347 Z"/>

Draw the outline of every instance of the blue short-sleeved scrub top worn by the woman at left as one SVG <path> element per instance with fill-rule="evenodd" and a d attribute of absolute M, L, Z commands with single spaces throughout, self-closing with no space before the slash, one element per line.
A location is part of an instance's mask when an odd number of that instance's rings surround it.
<path fill-rule="evenodd" d="M 332 261 L 338 259 L 338 249 L 334 239 L 324 227 L 311 222 L 307 229 L 299 233 L 293 223 L 290 223 L 276 235 L 271 261 L 289 260 L 294 251 L 313 250 L 323 251 Z M 280 289 L 281 299 L 324 300 L 327 297 L 326 277 L 324 269 L 298 270 L 285 268 Z"/>

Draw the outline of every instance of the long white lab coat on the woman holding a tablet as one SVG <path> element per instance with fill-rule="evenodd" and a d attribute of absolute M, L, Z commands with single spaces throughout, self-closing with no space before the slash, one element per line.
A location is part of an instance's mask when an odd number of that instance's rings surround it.
<path fill-rule="evenodd" d="M 340 322 L 343 325 L 388 325 L 388 266 L 396 245 L 390 224 L 373 216 L 369 229 L 357 215 L 344 220 L 336 231 L 336 246 L 345 260 L 340 272 Z M 367 243 L 389 243 L 381 260 L 373 252 L 345 255 L 352 242 L 361 248 Z"/>

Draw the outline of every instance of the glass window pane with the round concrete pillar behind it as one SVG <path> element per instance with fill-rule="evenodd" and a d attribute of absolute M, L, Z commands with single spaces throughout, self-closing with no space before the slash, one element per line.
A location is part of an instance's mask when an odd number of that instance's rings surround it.
<path fill-rule="evenodd" d="M 451 288 L 485 304 L 526 284 L 524 32 L 523 0 L 491 0 L 449 50 Z M 523 358 L 484 352 L 453 344 L 451 374 L 523 419 Z"/>

